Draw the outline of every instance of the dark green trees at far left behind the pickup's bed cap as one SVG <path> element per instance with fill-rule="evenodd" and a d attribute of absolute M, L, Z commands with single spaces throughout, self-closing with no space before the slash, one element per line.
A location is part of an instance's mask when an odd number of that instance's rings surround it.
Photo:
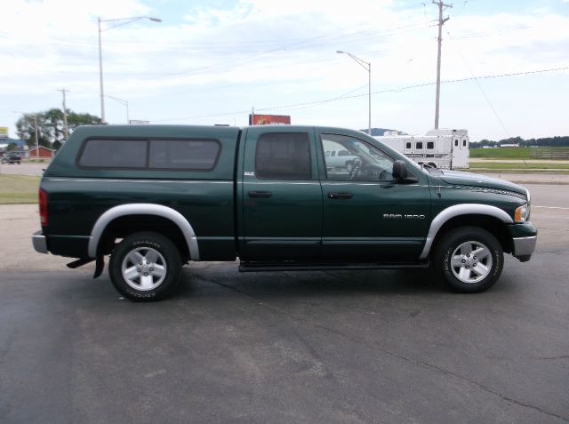
<path fill-rule="evenodd" d="M 28 146 L 36 146 L 36 121 L 39 144 L 46 148 L 61 147 L 65 142 L 65 122 L 63 112 L 59 108 L 52 108 L 43 113 L 25 114 L 16 123 L 18 136 L 26 140 Z M 68 131 L 71 134 L 76 127 L 81 125 L 102 124 L 99 116 L 90 114 L 78 114 L 68 109 Z"/>

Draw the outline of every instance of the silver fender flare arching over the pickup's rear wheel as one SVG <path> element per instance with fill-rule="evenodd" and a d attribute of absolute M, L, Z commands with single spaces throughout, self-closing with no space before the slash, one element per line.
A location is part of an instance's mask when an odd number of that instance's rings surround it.
<path fill-rule="evenodd" d="M 184 216 L 163 204 L 120 204 L 110 208 L 107 212 L 100 215 L 99 219 L 92 227 L 91 236 L 89 236 L 88 254 L 90 258 L 97 257 L 97 249 L 99 247 L 100 237 L 103 235 L 108 224 L 116 218 L 127 215 L 156 215 L 167 220 L 172 220 L 174 224 L 180 228 L 181 233 L 188 244 L 189 255 L 192 260 L 199 260 L 199 248 L 197 246 L 197 237 L 194 228 Z"/>

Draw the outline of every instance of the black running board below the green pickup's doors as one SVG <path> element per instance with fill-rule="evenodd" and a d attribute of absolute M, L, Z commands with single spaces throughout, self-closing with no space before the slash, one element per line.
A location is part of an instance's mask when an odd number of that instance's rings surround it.
<path fill-rule="evenodd" d="M 299 262 L 241 262 L 239 272 L 260 271 L 350 271 L 366 269 L 429 268 L 429 262 L 405 263 L 299 263 Z"/>

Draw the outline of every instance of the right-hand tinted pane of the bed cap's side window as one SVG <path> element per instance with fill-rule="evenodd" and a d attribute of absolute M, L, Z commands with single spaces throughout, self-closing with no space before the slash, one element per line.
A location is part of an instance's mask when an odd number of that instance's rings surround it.
<path fill-rule="evenodd" d="M 211 170 L 220 153 L 213 140 L 151 140 L 150 168 Z"/>

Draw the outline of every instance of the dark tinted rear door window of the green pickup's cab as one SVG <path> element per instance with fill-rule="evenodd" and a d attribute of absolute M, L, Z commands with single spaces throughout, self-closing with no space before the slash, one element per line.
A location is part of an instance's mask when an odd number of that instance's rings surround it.
<path fill-rule="evenodd" d="M 257 140 L 255 172 L 258 178 L 310 180 L 309 134 L 263 134 Z"/>

